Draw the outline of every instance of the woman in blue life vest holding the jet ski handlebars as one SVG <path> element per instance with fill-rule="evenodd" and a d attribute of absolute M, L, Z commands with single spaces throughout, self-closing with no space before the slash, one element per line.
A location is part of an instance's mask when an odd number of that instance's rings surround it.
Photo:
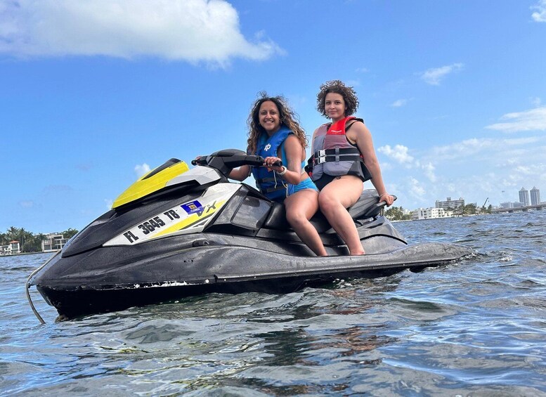
<path fill-rule="evenodd" d="M 271 200 L 284 202 L 286 219 L 315 254 L 326 250 L 309 219 L 318 210 L 318 189 L 304 170 L 307 138 L 294 112 L 281 96 L 259 94 L 248 117 L 247 152 L 264 157 L 264 166 L 233 169 L 230 178 L 244 181 L 251 173 L 256 186 Z M 281 166 L 273 165 L 282 161 Z"/>

